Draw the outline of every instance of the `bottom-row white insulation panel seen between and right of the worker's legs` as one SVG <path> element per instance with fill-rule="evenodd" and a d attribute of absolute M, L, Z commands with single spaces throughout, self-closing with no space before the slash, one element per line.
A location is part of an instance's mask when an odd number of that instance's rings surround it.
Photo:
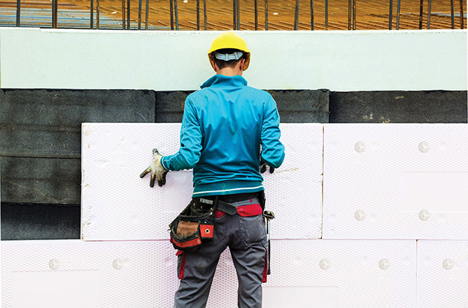
<path fill-rule="evenodd" d="M 208 307 L 237 307 L 235 279 L 226 251 Z M 416 241 L 272 240 L 263 294 L 265 308 L 415 307 Z"/>

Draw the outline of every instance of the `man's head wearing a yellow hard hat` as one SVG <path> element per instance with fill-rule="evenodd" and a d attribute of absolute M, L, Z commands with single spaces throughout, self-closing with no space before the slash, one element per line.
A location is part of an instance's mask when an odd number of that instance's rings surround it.
<path fill-rule="evenodd" d="M 208 58 L 216 73 L 242 75 L 242 71 L 249 67 L 250 51 L 242 37 L 226 32 L 215 38 Z"/>

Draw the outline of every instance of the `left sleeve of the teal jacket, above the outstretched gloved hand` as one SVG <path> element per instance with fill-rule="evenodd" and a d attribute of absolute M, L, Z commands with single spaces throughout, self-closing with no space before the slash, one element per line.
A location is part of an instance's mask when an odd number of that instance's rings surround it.
<path fill-rule="evenodd" d="M 161 157 L 161 165 L 167 170 L 179 171 L 194 167 L 201 155 L 201 129 L 197 110 L 190 97 L 186 99 L 181 126 L 179 152 Z"/>

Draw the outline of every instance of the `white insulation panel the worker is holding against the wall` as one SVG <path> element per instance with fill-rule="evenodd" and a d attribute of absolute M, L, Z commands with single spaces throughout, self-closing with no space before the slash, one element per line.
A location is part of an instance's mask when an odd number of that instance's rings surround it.
<path fill-rule="evenodd" d="M 319 124 L 282 124 L 285 162 L 264 174 L 267 208 L 277 219 L 271 237 L 321 236 L 322 143 Z M 168 239 L 168 224 L 190 202 L 192 172 L 169 172 L 150 188 L 152 149 L 179 150 L 180 124 L 84 123 L 82 125 L 82 239 Z M 307 219 L 308 227 L 297 221 Z"/>

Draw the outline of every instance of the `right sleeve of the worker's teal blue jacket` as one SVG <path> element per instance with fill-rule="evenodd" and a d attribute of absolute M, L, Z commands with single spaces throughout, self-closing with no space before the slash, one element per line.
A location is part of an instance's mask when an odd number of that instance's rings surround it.
<path fill-rule="evenodd" d="M 285 146 L 280 141 L 280 114 L 271 95 L 263 106 L 263 122 L 260 139 L 262 158 L 270 167 L 280 167 L 285 160 Z"/>

